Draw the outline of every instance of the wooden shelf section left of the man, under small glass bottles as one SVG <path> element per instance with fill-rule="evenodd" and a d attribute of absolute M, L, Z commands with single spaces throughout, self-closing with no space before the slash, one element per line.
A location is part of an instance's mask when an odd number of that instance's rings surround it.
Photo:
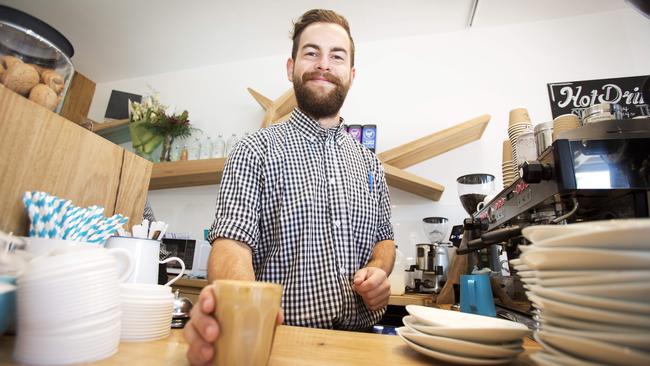
<path fill-rule="evenodd" d="M 219 184 L 226 158 L 185 160 L 153 165 L 150 190 Z"/>

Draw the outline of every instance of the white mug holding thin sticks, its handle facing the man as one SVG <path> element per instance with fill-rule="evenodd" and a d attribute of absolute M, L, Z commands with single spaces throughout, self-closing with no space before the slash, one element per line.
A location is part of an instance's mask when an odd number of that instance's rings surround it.
<path fill-rule="evenodd" d="M 185 263 L 178 257 L 169 257 L 160 260 L 160 241 L 153 239 L 131 238 L 112 236 L 106 241 L 107 248 L 126 249 L 133 255 L 133 272 L 126 279 L 127 283 L 149 283 L 158 284 L 158 264 L 178 261 L 181 271 L 178 276 L 167 282 L 169 286 L 176 282 L 185 273 Z"/>

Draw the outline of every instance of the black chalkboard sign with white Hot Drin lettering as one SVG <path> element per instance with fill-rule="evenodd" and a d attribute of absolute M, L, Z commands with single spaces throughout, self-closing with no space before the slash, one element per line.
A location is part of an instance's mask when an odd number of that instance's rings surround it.
<path fill-rule="evenodd" d="M 553 118 L 568 113 L 582 118 L 588 107 L 599 103 L 620 105 L 623 118 L 650 116 L 650 101 L 644 100 L 643 96 L 643 85 L 649 78 L 650 75 L 644 75 L 549 83 L 548 96 Z"/>

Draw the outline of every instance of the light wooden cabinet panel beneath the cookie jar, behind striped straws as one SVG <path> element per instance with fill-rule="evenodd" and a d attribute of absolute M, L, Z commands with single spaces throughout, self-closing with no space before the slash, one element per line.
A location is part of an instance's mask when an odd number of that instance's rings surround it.
<path fill-rule="evenodd" d="M 0 85 L 0 230 L 25 235 L 22 195 L 45 191 L 142 219 L 152 164 Z"/>

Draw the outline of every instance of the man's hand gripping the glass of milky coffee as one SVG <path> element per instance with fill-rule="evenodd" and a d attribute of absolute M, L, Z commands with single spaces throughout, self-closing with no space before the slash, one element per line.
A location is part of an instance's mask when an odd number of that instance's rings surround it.
<path fill-rule="evenodd" d="M 214 318 L 216 299 L 212 285 L 205 286 L 199 295 L 199 302 L 192 308 L 190 321 L 185 325 L 185 340 L 189 345 L 187 360 L 190 364 L 212 365 L 214 342 L 219 336 L 219 324 Z M 284 312 L 280 309 L 276 324 L 284 322 Z"/>

